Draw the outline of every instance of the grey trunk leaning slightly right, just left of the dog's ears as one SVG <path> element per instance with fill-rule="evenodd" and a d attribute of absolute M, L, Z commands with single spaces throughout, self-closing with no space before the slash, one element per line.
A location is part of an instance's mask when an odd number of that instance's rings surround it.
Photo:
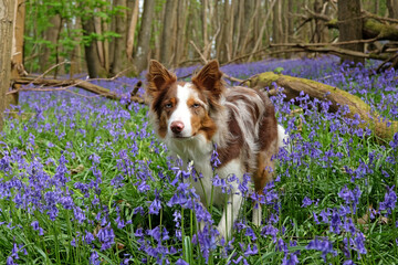
<path fill-rule="evenodd" d="M 134 62 L 137 67 L 137 72 L 146 70 L 148 65 L 148 55 L 149 55 L 149 41 L 151 33 L 151 20 L 155 11 L 155 0 L 145 0 L 144 1 L 144 12 L 142 18 L 142 25 L 138 35 L 138 45 L 137 52 L 134 56 Z"/>

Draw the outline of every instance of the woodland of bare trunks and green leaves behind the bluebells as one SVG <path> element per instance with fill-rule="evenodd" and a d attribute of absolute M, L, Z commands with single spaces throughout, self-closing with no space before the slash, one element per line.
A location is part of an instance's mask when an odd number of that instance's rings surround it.
<path fill-rule="evenodd" d="M 398 62 L 398 0 L 1 0 L 0 10 L 0 110 L 18 105 L 21 77 L 136 76 L 149 59 Z"/>

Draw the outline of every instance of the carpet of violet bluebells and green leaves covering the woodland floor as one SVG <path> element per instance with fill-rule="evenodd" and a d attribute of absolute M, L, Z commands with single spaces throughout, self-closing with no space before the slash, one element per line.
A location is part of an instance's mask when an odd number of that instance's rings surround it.
<path fill-rule="evenodd" d="M 277 68 L 345 89 L 398 120 L 398 72 L 376 67 L 321 57 L 222 71 L 244 80 Z M 96 83 L 127 98 L 138 81 Z M 218 241 L 222 210 L 198 203 L 184 182 L 197 172 L 169 156 L 145 105 L 77 89 L 21 93 L 0 134 L 0 264 L 398 263 L 398 134 L 383 142 L 347 119 L 346 107 L 329 113 L 331 103 L 305 94 L 271 99 L 291 148 L 277 155 L 263 195 L 244 176 L 233 236 Z M 232 181 L 213 178 L 226 193 Z M 260 227 L 251 223 L 253 200 L 263 208 Z"/>

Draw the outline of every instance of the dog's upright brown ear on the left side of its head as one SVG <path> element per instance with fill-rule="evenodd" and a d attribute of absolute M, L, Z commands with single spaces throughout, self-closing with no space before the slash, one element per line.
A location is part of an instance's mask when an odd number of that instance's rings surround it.
<path fill-rule="evenodd" d="M 164 89 L 167 85 L 177 81 L 177 76 L 166 70 L 158 61 L 150 60 L 149 70 L 147 73 L 147 93 L 149 95 L 154 95 L 161 89 Z"/>

